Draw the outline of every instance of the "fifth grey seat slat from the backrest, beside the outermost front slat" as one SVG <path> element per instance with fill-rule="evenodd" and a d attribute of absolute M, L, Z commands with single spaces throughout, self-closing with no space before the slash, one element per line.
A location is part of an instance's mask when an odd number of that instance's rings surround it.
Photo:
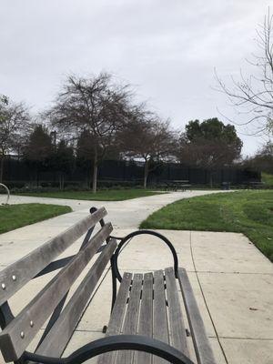
<path fill-rule="evenodd" d="M 165 269 L 170 344 L 188 356 L 186 330 L 178 298 L 174 268 Z"/>

